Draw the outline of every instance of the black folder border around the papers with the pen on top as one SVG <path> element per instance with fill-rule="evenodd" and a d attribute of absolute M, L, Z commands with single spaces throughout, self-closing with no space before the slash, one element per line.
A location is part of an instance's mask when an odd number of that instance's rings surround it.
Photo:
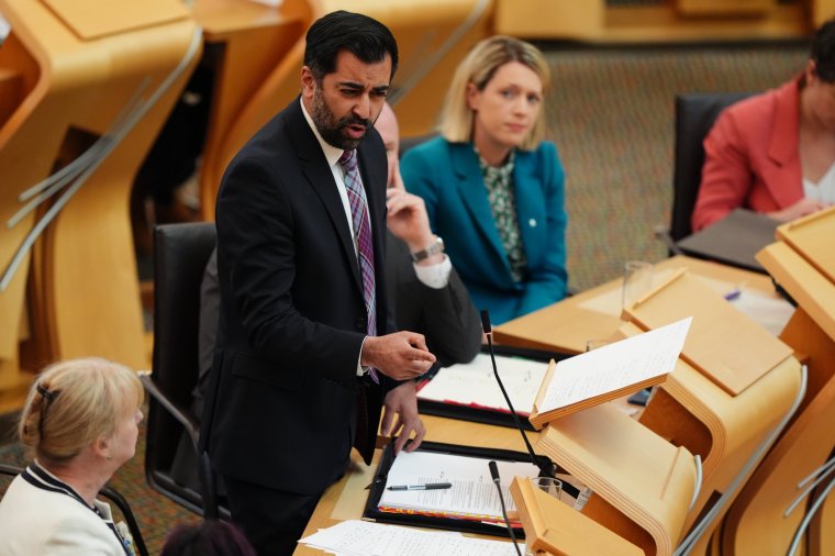
<path fill-rule="evenodd" d="M 509 449 L 481 448 L 475 446 L 459 446 L 455 444 L 443 444 L 438 442 L 423 442 L 420 452 L 439 452 L 455 454 L 459 456 L 470 456 L 485 459 L 485 466 L 491 459 L 503 462 L 530 462 L 531 456 L 523 452 L 513 452 Z M 423 515 L 419 513 L 394 513 L 383 512 L 378 509 L 380 498 L 386 489 L 388 470 L 394 462 L 393 444 L 388 444 L 380 457 L 374 481 L 369 486 L 368 500 L 366 501 L 363 519 L 380 523 L 392 523 L 397 525 L 409 525 L 413 527 L 442 529 L 446 531 L 459 531 L 464 533 L 477 533 L 482 535 L 494 535 L 510 537 L 508 527 L 503 522 L 496 525 L 483 523 L 481 521 L 471 521 L 456 518 L 444 518 L 434 515 Z M 553 466 L 550 458 L 547 456 L 536 456 L 537 464 Z M 513 527 L 513 534 L 516 538 L 524 538 L 524 530 L 521 524 Z"/>

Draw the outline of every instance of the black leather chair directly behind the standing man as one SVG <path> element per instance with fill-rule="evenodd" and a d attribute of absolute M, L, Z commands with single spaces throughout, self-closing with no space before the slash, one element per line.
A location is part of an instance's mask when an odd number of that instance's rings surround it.
<path fill-rule="evenodd" d="M 191 410 L 191 392 L 199 376 L 200 283 L 215 241 L 212 222 L 155 229 L 154 363 L 153 374 L 141 377 L 151 396 L 145 448 L 148 485 L 207 519 L 215 519 L 219 511 L 208 456 L 194 458 L 201 491 L 174 480 L 171 464 L 183 430 L 197 452 L 200 415 Z"/>

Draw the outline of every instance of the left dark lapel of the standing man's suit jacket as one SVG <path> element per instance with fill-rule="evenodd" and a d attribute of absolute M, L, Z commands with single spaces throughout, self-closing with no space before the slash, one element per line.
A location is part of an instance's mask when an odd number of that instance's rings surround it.
<path fill-rule="evenodd" d="M 345 218 L 345 209 L 342 204 L 339 192 L 336 189 L 333 174 L 331 174 L 331 168 L 327 166 L 325 155 L 322 153 L 322 147 L 308 125 L 299 102 L 297 97 L 292 104 L 293 108 L 288 111 L 288 135 L 296 147 L 296 154 L 299 157 L 299 164 L 304 177 L 322 201 L 331 223 L 339 236 L 343 254 L 354 275 L 354 282 L 361 294 L 363 281 L 359 277 L 359 265 L 354 249 L 353 235 L 348 227 L 348 221 Z"/>

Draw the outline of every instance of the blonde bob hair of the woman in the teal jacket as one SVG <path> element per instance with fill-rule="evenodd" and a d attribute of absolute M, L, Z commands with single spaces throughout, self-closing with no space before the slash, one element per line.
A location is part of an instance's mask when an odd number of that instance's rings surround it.
<path fill-rule="evenodd" d="M 550 70 L 538 48 L 511 36 L 497 35 L 486 38 L 476 44 L 455 70 L 441 112 L 439 130 L 444 138 L 452 143 L 471 141 L 474 115 L 467 103 L 467 86 L 472 84 L 479 91 L 485 90 L 496 71 L 511 62 L 519 62 L 531 68 L 539 77 L 543 92 L 547 91 L 550 86 Z M 544 110 L 543 105 L 536 122 L 520 145 L 522 149 L 532 151 L 539 145 L 545 133 Z"/>

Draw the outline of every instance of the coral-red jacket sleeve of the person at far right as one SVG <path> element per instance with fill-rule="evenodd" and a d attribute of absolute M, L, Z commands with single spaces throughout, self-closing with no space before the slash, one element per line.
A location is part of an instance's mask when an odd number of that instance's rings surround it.
<path fill-rule="evenodd" d="M 693 232 L 743 207 L 753 184 L 742 134 L 725 110 L 704 138 L 704 166 L 691 218 Z"/>

